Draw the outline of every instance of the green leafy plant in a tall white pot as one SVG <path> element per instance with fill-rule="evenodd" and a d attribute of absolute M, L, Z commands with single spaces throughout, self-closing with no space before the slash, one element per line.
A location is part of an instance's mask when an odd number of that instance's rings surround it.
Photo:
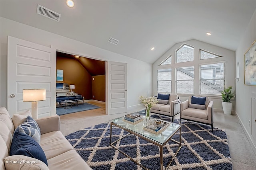
<path fill-rule="evenodd" d="M 221 92 L 222 96 L 222 108 L 225 115 L 231 115 L 232 111 L 232 100 L 234 99 L 235 95 L 232 92 L 232 86 L 228 88 L 224 88 Z"/>

